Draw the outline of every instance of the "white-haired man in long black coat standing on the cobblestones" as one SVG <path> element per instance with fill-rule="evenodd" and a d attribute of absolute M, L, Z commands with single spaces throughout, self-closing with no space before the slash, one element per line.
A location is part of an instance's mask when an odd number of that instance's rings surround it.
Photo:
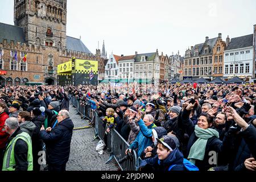
<path fill-rule="evenodd" d="M 57 125 L 44 130 L 41 127 L 40 137 L 46 143 L 47 163 L 49 171 L 65 171 L 70 154 L 73 133 L 73 122 L 67 110 L 60 110 Z"/>

